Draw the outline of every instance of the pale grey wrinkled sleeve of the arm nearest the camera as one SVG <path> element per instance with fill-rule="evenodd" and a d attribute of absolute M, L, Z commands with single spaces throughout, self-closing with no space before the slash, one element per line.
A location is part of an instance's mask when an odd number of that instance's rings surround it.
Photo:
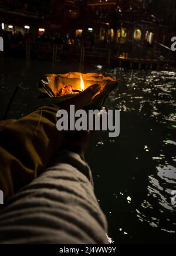
<path fill-rule="evenodd" d="M 66 150 L 0 213 L 0 244 L 108 244 L 106 233 L 90 168 Z"/>

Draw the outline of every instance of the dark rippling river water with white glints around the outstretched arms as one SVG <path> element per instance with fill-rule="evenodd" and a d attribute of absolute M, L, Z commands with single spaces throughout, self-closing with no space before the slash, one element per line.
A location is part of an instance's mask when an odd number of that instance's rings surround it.
<path fill-rule="evenodd" d="M 9 118 L 21 117 L 39 105 L 36 84 L 43 74 L 78 68 L 76 63 L 1 61 L 0 118 L 19 83 L 24 88 L 18 91 Z M 106 107 L 121 110 L 120 136 L 97 133 L 86 160 L 109 221 L 109 236 L 116 244 L 175 243 L 176 72 L 114 68 L 108 74 L 119 79 Z"/>

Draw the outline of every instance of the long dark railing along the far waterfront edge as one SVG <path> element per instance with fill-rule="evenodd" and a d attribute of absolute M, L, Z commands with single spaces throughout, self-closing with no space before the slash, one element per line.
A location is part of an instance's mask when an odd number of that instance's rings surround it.
<path fill-rule="evenodd" d="M 80 63 L 80 67 L 84 63 L 99 64 L 100 61 L 107 63 L 110 66 L 111 60 L 148 63 L 148 64 L 163 64 L 174 63 L 174 55 L 170 48 L 159 45 L 158 47 L 141 47 L 141 45 L 130 43 L 120 45 L 118 50 L 111 51 L 107 48 L 94 47 L 79 47 L 79 45 L 60 45 L 50 44 L 49 42 L 23 43 L 11 45 L 8 49 L 5 48 L 4 54 L 15 57 L 29 59 L 42 59 L 56 62 L 57 60 L 76 61 Z M 99 62 L 99 63 L 98 63 Z M 120 65 L 119 64 L 119 65 Z"/>

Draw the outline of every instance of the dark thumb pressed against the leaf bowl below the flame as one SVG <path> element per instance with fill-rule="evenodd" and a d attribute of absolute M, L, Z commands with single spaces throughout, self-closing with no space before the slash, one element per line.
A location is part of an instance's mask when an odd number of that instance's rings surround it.
<path fill-rule="evenodd" d="M 75 105 L 75 110 L 82 109 L 84 105 L 89 103 L 92 97 L 95 94 L 97 94 L 100 88 L 101 88 L 100 84 L 93 84 L 92 86 L 84 90 L 83 93 L 78 94 L 72 99 L 64 101 L 63 106 L 65 106 L 65 109 L 66 109 L 70 105 Z"/>

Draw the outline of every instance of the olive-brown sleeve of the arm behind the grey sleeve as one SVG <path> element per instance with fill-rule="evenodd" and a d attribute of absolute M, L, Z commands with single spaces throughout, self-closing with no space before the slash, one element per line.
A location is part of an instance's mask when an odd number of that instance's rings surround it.
<path fill-rule="evenodd" d="M 62 143 L 56 105 L 33 111 L 0 132 L 0 190 L 5 200 L 45 168 Z"/>

